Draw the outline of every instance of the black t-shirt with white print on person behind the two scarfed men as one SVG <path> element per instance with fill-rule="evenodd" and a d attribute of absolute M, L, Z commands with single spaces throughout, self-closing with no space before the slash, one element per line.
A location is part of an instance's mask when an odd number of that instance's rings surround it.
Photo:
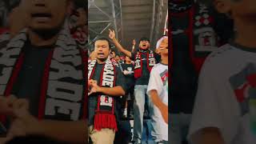
<path fill-rule="evenodd" d="M 122 64 L 122 70 L 127 70 L 129 72 L 129 74 L 124 75 L 126 79 L 126 86 L 134 86 L 134 65 L 124 63 Z"/>

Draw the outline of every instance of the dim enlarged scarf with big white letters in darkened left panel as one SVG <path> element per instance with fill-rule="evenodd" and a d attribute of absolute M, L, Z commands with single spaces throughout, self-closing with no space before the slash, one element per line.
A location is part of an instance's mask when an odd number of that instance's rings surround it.
<path fill-rule="evenodd" d="M 6 42 L 2 37 L 0 44 Z M 10 39 L 0 49 L 0 95 L 8 97 L 22 68 L 25 54 L 22 48 L 27 41 L 26 30 Z M 70 82 L 86 80 L 86 52 L 78 49 L 69 30 L 58 34 L 55 48 L 50 51 L 42 77 L 38 119 L 58 119 L 62 114 L 67 120 L 85 119 L 87 114 L 86 85 Z M 77 70 L 82 66 L 83 70 Z M 2 118 L 4 119 L 4 118 Z"/>

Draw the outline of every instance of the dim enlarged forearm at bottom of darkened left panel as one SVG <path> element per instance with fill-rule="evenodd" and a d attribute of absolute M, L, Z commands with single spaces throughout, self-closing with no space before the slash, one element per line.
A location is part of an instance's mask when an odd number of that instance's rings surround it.
<path fill-rule="evenodd" d="M 86 121 L 64 122 L 42 120 L 39 122 L 39 124 L 40 130 L 38 130 L 38 134 L 42 134 L 49 138 L 54 138 L 58 141 L 85 143 L 88 138 Z"/>

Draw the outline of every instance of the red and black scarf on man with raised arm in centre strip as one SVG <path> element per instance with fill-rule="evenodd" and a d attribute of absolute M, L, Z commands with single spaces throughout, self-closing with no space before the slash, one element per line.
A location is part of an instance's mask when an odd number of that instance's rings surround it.
<path fill-rule="evenodd" d="M 134 61 L 134 78 L 142 77 L 142 51 L 139 50 L 135 55 Z M 154 52 L 152 50 L 146 51 L 146 62 L 147 62 L 147 69 L 149 71 L 152 70 L 153 66 L 155 65 L 155 58 Z"/>

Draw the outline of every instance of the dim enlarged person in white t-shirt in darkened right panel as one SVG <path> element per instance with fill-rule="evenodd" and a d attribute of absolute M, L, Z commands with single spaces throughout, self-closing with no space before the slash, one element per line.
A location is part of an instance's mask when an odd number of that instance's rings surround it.
<path fill-rule="evenodd" d="M 214 0 L 234 19 L 234 42 L 206 59 L 188 139 L 193 144 L 256 143 L 256 1 Z"/>

